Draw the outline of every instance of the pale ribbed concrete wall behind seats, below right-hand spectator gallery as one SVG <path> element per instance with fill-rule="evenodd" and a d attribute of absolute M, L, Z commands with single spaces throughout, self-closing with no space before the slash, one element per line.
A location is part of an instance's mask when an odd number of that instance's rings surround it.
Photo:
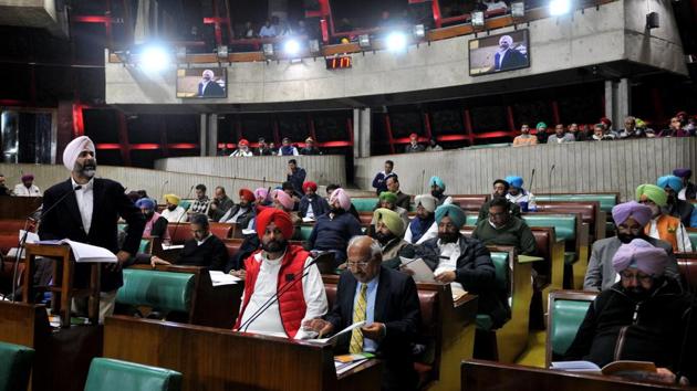
<path fill-rule="evenodd" d="M 368 189 L 383 162 L 394 160 L 402 190 L 426 192 L 431 176 L 444 179 L 447 193 L 489 193 L 497 178 L 523 177 L 532 192 L 618 191 L 632 198 L 642 183 L 655 183 L 677 167 L 697 168 L 697 138 L 574 142 L 521 148 L 450 150 L 356 159 L 358 187 Z M 550 170 L 554 166 L 552 176 Z"/>

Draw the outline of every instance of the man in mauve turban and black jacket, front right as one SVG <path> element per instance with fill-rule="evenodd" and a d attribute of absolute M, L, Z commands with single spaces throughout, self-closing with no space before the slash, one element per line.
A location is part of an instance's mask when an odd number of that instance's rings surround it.
<path fill-rule="evenodd" d="M 694 323 L 688 326 L 691 297 L 664 276 L 667 263 L 666 252 L 646 241 L 623 244 L 612 260 L 620 282 L 591 304 L 564 359 L 600 367 L 616 360 L 652 361 L 666 369 L 659 373 L 697 381 L 697 329 Z M 686 340 L 690 348 L 684 347 Z"/>

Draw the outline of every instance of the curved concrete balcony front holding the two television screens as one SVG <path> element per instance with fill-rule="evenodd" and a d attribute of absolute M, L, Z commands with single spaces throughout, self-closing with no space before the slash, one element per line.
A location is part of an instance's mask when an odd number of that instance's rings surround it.
<path fill-rule="evenodd" d="M 228 97 L 215 103 L 273 103 L 345 98 L 403 93 L 504 78 L 628 60 L 686 74 L 683 50 L 670 6 L 648 0 L 648 9 L 660 13 L 660 29 L 644 34 L 647 3 L 618 0 L 599 10 L 590 8 L 570 15 L 530 23 L 531 66 L 503 74 L 470 77 L 467 42 L 474 35 L 409 46 L 406 53 L 387 51 L 353 55 L 353 68 L 325 70 L 324 61 L 305 59 L 233 63 L 228 66 Z M 523 28 L 523 25 L 521 25 Z M 500 29 L 492 33 L 510 31 Z M 198 64 L 196 66 L 218 66 Z M 145 74 L 134 66 L 107 62 L 106 102 L 110 104 L 177 104 L 191 101 L 175 97 L 174 67 L 160 74 Z"/>

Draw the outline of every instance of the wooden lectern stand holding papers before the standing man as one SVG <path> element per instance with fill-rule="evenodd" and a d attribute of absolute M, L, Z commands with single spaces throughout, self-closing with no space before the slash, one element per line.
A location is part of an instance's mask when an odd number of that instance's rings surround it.
<path fill-rule="evenodd" d="M 75 261 L 72 256 L 70 246 L 46 245 L 46 244 L 27 244 L 25 266 L 24 266 L 24 295 L 23 303 L 34 303 L 37 288 L 33 285 L 33 276 L 37 270 L 35 260 L 38 256 L 53 260 L 53 284 L 45 287 L 46 290 L 53 293 L 51 309 L 61 316 L 61 327 L 70 327 L 70 314 L 73 298 L 89 297 L 89 316 L 93 325 L 97 325 L 100 320 L 100 278 L 101 265 L 98 263 L 90 264 L 90 285 L 86 288 L 74 288 L 73 277 L 75 273 Z"/>

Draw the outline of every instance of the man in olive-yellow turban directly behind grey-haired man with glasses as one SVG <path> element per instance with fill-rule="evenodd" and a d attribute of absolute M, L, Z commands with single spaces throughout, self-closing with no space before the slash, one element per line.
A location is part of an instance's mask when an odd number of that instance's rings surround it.
<path fill-rule="evenodd" d="M 379 243 L 383 251 L 383 265 L 389 268 L 398 268 L 402 264 L 400 256 L 413 258 L 416 254 L 412 243 L 402 239 L 404 234 L 404 221 L 389 209 L 379 208 L 373 212 L 375 232 L 373 237 Z"/>

